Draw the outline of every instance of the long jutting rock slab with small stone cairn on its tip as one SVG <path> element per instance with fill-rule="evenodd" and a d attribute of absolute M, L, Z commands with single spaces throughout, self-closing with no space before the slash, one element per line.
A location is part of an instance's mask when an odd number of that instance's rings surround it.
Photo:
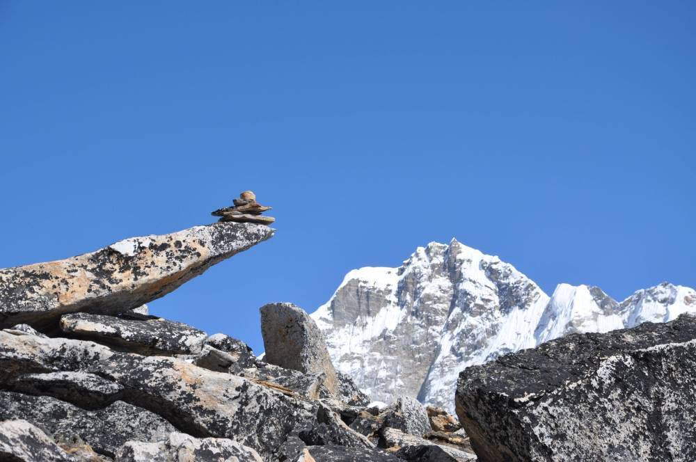
<path fill-rule="evenodd" d="M 138 308 L 273 233 L 253 223 L 214 223 L 133 237 L 66 260 L 0 269 L 0 328 L 51 324 L 69 312 Z"/>

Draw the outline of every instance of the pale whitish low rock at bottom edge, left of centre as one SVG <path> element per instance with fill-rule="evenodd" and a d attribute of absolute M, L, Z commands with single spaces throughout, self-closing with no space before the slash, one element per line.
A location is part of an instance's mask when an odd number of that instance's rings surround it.
<path fill-rule="evenodd" d="M 258 452 L 226 438 L 193 438 L 171 433 L 157 443 L 129 441 L 116 454 L 116 462 L 263 462 Z"/>

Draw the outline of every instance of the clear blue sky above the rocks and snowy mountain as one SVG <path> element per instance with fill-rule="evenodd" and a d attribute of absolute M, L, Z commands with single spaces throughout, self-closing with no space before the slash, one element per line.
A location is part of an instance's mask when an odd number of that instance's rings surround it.
<path fill-rule="evenodd" d="M 0 0 L 0 266 L 253 189 L 276 237 L 153 312 L 260 351 L 264 303 L 452 237 L 549 294 L 694 287 L 695 3 L 569 3 Z"/>

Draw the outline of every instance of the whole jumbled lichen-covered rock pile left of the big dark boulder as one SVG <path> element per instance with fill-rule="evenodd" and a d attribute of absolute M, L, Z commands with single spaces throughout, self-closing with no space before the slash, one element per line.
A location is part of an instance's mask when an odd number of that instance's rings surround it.
<path fill-rule="evenodd" d="M 451 416 L 431 424 L 407 398 L 368 406 L 294 305 L 262 308 L 269 363 L 228 335 L 135 308 L 272 234 L 216 223 L 0 270 L 0 460 L 472 459 Z M 398 448 L 393 431 L 405 435 Z"/>

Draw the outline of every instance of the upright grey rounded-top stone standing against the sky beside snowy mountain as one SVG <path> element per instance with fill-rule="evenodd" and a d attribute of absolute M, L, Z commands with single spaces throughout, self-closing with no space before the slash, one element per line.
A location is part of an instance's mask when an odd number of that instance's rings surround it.
<path fill-rule="evenodd" d="M 269 364 L 300 372 L 324 372 L 324 386 L 338 392 L 336 372 L 324 335 L 301 308 L 292 303 L 270 303 L 261 308 L 261 333 Z"/>

